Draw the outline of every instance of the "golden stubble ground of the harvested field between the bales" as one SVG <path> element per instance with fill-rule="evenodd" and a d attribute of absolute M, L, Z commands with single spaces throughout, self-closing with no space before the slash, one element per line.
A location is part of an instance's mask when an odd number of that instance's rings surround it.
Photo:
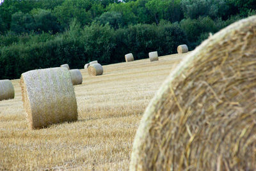
<path fill-rule="evenodd" d="M 127 170 L 141 116 L 186 54 L 103 66 L 75 86 L 78 121 L 30 130 L 19 80 L 13 100 L 0 101 L 0 170 Z"/>

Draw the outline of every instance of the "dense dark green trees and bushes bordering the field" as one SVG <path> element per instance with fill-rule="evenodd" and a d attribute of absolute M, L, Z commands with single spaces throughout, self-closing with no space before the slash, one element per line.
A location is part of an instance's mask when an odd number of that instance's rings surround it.
<path fill-rule="evenodd" d="M 255 0 L 4 0 L 0 79 L 63 63 L 118 63 L 129 52 L 172 54 L 183 43 L 192 50 L 255 10 Z"/>

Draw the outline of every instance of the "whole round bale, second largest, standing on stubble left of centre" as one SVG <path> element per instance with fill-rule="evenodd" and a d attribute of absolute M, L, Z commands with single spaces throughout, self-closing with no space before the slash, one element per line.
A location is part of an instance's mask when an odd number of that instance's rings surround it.
<path fill-rule="evenodd" d="M 77 103 L 67 68 L 22 73 L 22 101 L 32 129 L 77 121 Z"/>

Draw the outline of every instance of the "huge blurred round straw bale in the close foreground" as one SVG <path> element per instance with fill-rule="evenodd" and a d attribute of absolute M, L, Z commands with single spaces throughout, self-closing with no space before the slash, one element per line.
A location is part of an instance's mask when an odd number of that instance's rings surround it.
<path fill-rule="evenodd" d="M 256 170 L 256 17 L 214 34 L 164 81 L 130 170 Z"/>

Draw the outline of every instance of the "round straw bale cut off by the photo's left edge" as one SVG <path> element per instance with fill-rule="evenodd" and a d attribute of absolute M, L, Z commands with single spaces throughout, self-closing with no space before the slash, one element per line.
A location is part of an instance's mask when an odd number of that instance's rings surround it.
<path fill-rule="evenodd" d="M 10 80 L 0 80 L 0 100 L 14 98 L 14 88 Z"/>

